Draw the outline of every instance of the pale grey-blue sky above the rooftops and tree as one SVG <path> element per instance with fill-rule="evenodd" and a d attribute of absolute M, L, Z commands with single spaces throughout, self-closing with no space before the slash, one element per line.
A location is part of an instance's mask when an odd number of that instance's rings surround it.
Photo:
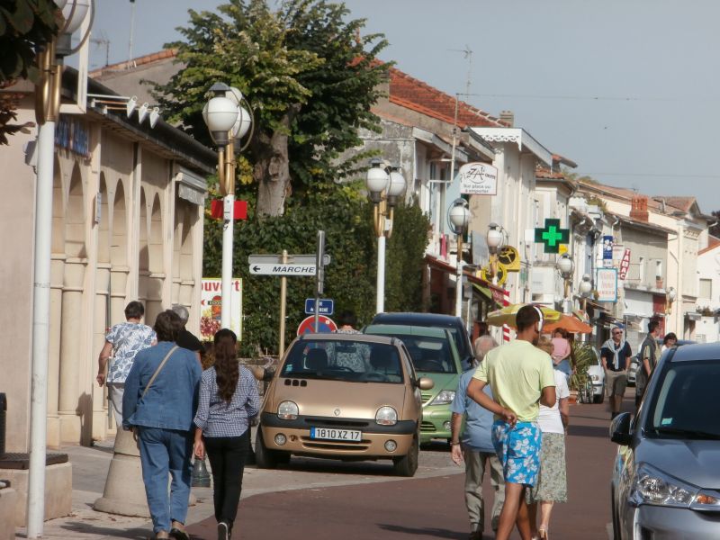
<path fill-rule="evenodd" d="M 90 67 L 177 40 L 188 8 L 218 0 L 96 0 Z M 497 116 L 515 113 L 575 172 L 720 210 L 720 2 L 347 0 L 380 58 Z M 134 39 L 130 50 L 130 21 Z M 105 41 L 109 41 L 108 44 Z M 472 51 L 467 54 L 466 51 Z M 469 86 L 469 89 L 468 89 Z"/>

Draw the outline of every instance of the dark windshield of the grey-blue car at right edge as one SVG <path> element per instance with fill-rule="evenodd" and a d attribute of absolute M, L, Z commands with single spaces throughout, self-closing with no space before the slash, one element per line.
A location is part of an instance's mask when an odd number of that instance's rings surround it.
<path fill-rule="evenodd" d="M 664 438 L 720 439 L 715 415 L 720 385 L 720 360 L 670 363 L 655 386 L 650 436 Z"/>

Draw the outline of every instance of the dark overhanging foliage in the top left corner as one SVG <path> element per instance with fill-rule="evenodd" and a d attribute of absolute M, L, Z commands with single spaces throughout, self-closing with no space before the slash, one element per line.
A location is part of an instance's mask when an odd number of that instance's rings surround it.
<path fill-rule="evenodd" d="M 58 34 L 63 21 L 53 0 L 5 0 L 0 5 L 0 88 L 19 78 L 37 82 L 35 52 Z M 25 127 L 9 123 L 17 119 L 17 98 L 0 96 L 0 144 L 8 144 L 7 136 Z"/>

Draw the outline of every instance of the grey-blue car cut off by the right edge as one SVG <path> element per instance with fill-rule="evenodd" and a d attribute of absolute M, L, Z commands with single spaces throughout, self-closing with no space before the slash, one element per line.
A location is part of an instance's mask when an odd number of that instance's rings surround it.
<path fill-rule="evenodd" d="M 611 482 L 616 540 L 718 538 L 720 344 L 663 355 L 633 419 L 610 424 L 619 447 Z"/>

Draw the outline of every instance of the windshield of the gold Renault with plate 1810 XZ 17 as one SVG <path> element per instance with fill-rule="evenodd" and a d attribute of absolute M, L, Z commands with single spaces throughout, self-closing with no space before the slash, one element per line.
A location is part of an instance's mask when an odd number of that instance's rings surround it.
<path fill-rule="evenodd" d="M 397 347 L 347 339 L 297 341 L 285 360 L 280 376 L 350 383 L 403 381 Z"/>

